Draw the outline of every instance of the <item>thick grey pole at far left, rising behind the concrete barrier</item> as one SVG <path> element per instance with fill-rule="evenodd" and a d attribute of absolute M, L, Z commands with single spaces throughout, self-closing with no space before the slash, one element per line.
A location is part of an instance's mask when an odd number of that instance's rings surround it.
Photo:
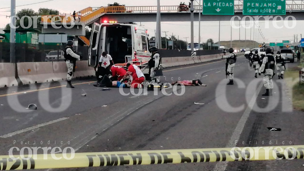
<path fill-rule="evenodd" d="M 16 0 L 11 0 L 10 62 L 15 62 Z"/>

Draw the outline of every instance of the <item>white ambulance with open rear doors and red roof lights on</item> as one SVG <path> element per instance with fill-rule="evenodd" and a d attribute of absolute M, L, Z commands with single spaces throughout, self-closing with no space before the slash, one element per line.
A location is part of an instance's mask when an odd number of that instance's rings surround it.
<path fill-rule="evenodd" d="M 135 24 L 112 21 L 104 21 L 102 24 L 94 23 L 88 65 L 96 67 L 104 51 L 112 56 L 116 65 L 125 66 L 134 59 L 139 60 L 139 65 L 147 64 L 151 56 L 148 30 Z"/>

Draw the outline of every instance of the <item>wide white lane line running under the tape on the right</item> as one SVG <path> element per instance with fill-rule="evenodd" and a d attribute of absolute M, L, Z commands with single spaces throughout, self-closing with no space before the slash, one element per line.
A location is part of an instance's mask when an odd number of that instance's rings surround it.
<path fill-rule="evenodd" d="M 246 110 L 244 111 L 241 119 L 239 120 L 239 122 L 237 123 L 237 127 L 235 128 L 235 130 L 233 131 L 230 140 L 228 141 L 228 144 L 226 145 L 226 147 L 235 147 L 235 141 L 239 141 L 240 136 L 242 134 L 242 131 L 244 129 L 244 126 L 246 124 L 246 121 L 249 117 L 249 114 L 251 112 L 251 109 L 253 108 L 255 102 L 257 101 L 257 95 L 259 94 L 261 88 L 262 88 L 263 82 L 261 82 L 261 84 L 259 85 L 259 87 L 256 89 L 254 95 L 252 96 Z M 228 166 L 228 162 L 224 161 L 224 162 L 218 162 L 216 163 L 216 166 L 214 167 L 213 171 L 225 171 L 226 168 Z"/>

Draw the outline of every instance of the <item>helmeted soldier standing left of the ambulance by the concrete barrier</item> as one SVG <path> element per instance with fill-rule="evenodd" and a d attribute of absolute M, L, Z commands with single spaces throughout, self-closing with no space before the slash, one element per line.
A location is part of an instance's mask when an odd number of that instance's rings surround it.
<path fill-rule="evenodd" d="M 73 44 L 73 40 L 68 40 L 67 47 L 64 49 L 64 58 L 67 65 L 67 88 L 74 88 L 71 83 L 73 72 L 75 72 L 74 65 L 76 65 L 76 61 L 80 61 L 80 59 L 82 59 L 82 56 L 79 56 L 73 52 Z"/>

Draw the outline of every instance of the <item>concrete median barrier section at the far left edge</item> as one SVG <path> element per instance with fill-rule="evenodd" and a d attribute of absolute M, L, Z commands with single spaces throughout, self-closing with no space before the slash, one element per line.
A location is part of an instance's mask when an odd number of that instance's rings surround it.
<path fill-rule="evenodd" d="M 15 63 L 0 63 L 0 88 L 18 85 L 15 78 Z"/>

